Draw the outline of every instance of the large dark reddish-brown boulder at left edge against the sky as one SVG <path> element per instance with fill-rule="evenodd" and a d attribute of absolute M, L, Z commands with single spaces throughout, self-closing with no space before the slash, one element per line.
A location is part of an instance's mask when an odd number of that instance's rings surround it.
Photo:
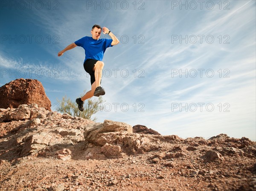
<path fill-rule="evenodd" d="M 51 101 L 38 80 L 16 79 L 0 87 L 0 108 L 18 108 L 22 104 L 36 103 L 51 111 Z"/>

